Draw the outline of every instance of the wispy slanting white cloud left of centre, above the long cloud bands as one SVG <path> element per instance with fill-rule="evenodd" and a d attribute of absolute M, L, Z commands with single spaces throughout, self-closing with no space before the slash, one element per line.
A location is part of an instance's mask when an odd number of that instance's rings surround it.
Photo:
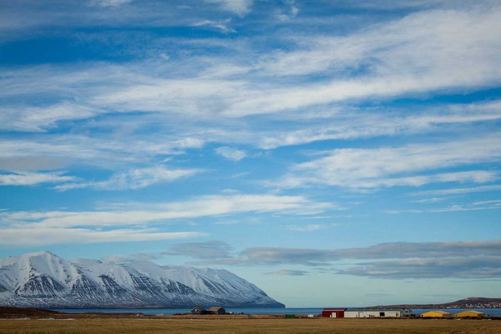
<path fill-rule="evenodd" d="M 155 183 L 172 182 L 200 172 L 202 172 L 202 170 L 200 169 L 167 169 L 163 166 L 155 166 L 149 168 L 130 169 L 126 172 L 115 173 L 106 181 L 66 183 L 56 186 L 55 189 L 138 189 L 150 186 Z"/>

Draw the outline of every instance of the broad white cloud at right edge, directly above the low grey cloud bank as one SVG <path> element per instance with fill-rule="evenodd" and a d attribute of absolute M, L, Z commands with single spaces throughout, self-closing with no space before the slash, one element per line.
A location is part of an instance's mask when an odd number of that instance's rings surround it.
<path fill-rule="evenodd" d="M 493 181 L 498 178 L 496 171 L 472 170 L 430 175 L 415 173 L 499 161 L 501 138 L 494 135 L 397 148 L 336 149 L 319 154 L 325 156 L 295 165 L 294 172 L 280 181 L 279 185 L 301 187 L 308 184 L 327 184 L 350 188 L 377 188 L 420 186 L 431 182 Z M 402 174 L 404 176 L 401 176 Z"/>

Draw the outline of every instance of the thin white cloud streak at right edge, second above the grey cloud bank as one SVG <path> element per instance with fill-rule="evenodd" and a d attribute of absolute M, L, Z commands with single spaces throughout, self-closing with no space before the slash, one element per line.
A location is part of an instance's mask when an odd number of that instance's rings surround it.
<path fill-rule="evenodd" d="M 336 110 L 323 119 L 319 112 L 299 113 L 301 124 L 294 129 L 258 132 L 250 136 L 254 144 L 263 149 L 288 145 L 301 145 L 321 140 L 371 138 L 384 135 L 413 135 L 426 132 L 447 131 L 446 126 L 501 119 L 501 102 L 448 105 L 427 110 L 404 113 L 395 110 L 390 114 L 372 109 L 371 113 L 355 108 Z M 410 115 L 409 115 L 410 114 Z M 318 119 L 321 121 L 318 122 Z M 240 134 L 242 138 L 242 134 Z"/>

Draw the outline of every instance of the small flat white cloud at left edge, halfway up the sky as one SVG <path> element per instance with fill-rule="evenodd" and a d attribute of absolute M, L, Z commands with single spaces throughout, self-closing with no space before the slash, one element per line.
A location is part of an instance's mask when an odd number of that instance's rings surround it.
<path fill-rule="evenodd" d="M 76 179 L 74 176 L 64 175 L 63 172 L 11 172 L 9 174 L 0 174 L 0 186 L 33 186 L 41 183 L 69 182 Z"/>

